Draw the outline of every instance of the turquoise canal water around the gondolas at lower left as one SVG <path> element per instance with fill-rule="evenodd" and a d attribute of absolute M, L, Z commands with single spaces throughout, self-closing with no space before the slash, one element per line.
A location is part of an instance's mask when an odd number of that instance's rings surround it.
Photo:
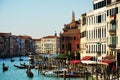
<path fill-rule="evenodd" d="M 15 57 L 15 61 L 11 62 L 10 59 L 0 59 L 0 80 L 64 80 L 64 78 L 57 77 L 46 77 L 42 74 L 38 74 L 38 70 L 32 69 L 34 73 L 33 78 L 27 77 L 26 69 L 18 69 L 14 67 L 14 64 L 20 65 L 20 63 L 28 64 L 28 57 L 22 57 L 23 61 L 19 61 L 19 57 Z M 2 71 L 2 63 L 5 63 L 6 66 L 9 66 L 8 71 Z M 80 78 L 71 78 L 66 80 L 84 80 Z"/>

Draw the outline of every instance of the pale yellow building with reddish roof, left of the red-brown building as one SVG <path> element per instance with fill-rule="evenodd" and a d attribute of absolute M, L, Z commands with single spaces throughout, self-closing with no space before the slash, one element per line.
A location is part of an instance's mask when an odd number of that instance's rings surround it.
<path fill-rule="evenodd" d="M 60 38 L 58 36 L 45 36 L 41 38 L 40 53 L 58 54 L 60 49 Z"/>

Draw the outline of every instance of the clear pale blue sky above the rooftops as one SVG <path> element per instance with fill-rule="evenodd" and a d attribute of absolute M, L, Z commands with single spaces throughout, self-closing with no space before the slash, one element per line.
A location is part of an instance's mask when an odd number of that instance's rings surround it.
<path fill-rule="evenodd" d="M 92 10 L 93 0 L 0 0 L 0 32 L 39 39 L 59 36 L 72 19 Z"/>

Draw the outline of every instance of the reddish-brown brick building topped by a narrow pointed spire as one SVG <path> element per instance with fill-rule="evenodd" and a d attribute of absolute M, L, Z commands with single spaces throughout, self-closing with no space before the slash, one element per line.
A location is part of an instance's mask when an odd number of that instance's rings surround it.
<path fill-rule="evenodd" d="M 80 20 L 75 21 L 75 14 L 72 13 L 72 22 L 65 24 L 63 32 L 60 33 L 60 52 L 74 53 L 80 50 Z"/>

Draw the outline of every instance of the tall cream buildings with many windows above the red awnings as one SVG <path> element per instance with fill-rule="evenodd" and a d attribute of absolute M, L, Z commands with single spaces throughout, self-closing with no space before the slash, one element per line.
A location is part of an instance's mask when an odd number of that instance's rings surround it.
<path fill-rule="evenodd" d="M 80 28 L 81 33 L 86 34 L 83 56 L 94 56 L 98 60 L 116 56 L 116 49 L 120 49 L 119 14 L 120 0 L 93 0 L 93 11 L 86 13 L 86 24 Z"/>

